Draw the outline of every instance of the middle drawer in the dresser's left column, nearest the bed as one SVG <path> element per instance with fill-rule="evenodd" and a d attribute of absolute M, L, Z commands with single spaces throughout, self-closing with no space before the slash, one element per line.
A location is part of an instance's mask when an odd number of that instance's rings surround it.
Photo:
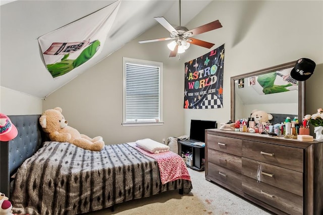
<path fill-rule="evenodd" d="M 207 160 L 213 164 L 241 173 L 241 156 L 209 148 L 207 150 Z"/>

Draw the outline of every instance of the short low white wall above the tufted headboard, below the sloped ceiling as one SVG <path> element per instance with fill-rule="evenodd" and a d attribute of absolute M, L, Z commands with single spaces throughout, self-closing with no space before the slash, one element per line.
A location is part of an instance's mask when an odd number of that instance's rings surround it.
<path fill-rule="evenodd" d="M 0 87 L 0 113 L 33 115 L 42 113 L 42 99 L 16 90 Z"/>

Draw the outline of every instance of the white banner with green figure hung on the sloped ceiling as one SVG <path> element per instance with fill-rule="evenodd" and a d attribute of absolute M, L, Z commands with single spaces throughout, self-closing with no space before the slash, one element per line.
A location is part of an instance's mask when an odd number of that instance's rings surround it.
<path fill-rule="evenodd" d="M 46 69 L 53 78 L 81 66 L 101 52 L 121 0 L 38 38 Z"/>

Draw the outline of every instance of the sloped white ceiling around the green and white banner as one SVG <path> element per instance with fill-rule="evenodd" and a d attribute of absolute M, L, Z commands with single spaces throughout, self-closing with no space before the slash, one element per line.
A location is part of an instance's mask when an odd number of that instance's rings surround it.
<path fill-rule="evenodd" d="M 211 1 L 182 0 L 181 25 L 185 26 Z M 174 26 L 179 25 L 177 0 L 122 0 L 101 53 L 53 79 L 42 62 L 37 38 L 114 2 L 1 0 L 1 86 L 43 98 L 158 24 L 153 17 L 164 16 Z"/>

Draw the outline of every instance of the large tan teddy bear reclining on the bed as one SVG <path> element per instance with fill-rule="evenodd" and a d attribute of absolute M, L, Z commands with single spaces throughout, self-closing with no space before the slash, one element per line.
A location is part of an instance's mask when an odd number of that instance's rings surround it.
<path fill-rule="evenodd" d="M 75 128 L 68 126 L 67 120 L 62 115 L 62 109 L 59 107 L 46 110 L 39 118 L 39 123 L 42 130 L 49 134 L 51 141 L 69 142 L 78 147 L 93 151 L 100 151 L 104 147 L 102 137 L 97 136 L 92 139 L 85 134 L 80 134 Z"/>

